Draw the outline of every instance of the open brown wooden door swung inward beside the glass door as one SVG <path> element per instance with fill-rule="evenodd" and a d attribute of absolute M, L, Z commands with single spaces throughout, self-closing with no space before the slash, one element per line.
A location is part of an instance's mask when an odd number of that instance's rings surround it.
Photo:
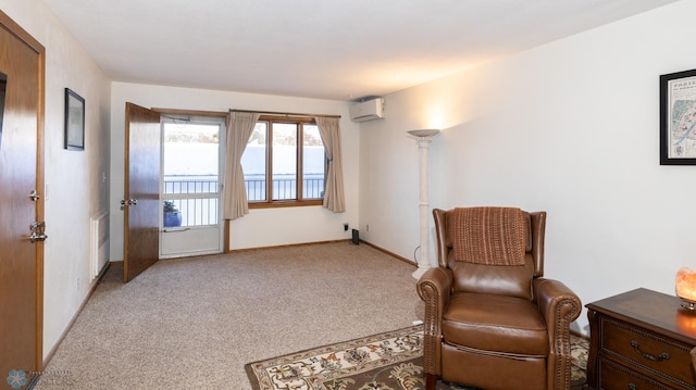
<path fill-rule="evenodd" d="M 159 260 L 160 114 L 126 103 L 123 279 Z"/>

